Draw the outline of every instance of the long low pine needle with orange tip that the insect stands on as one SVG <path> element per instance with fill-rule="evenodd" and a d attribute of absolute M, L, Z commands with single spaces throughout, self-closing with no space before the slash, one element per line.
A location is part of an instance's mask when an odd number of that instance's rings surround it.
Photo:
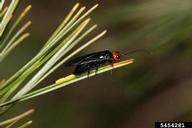
<path fill-rule="evenodd" d="M 132 64 L 133 62 L 134 62 L 134 59 L 125 60 L 125 61 L 115 63 L 115 64 L 113 64 L 113 66 L 107 65 L 107 66 L 101 67 L 98 69 L 97 72 L 95 72 L 95 70 L 92 70 L 89 75 L 87 73 L 84 73 L 80 76 L 75 76 L 72 74 L 72 75 L 66 76 L 64 78 L 60 78 L 60 79 L 56 80 L 56 82 L 54 84 L 48 85 L 48 86 L 41 88 L 39 90 L 32 91 L 32 92 L 25 94 L 25 95 L 23 95 L 17 99 L 15 98 L 15 99 L 12 99 L 8 102 L 2 103 L 2 104 L 0 104 L 0 107 L 10 105 L 10 104 L 15 103 L 15 102 L 29 100 L 31 98 L 46 94 L 48 92 L 57 90 L 59 88 L 62 88 L 64 86 L 70 85 L 70 84 L 75 83 L 75 82 L 78 82 L 80 80 L 95 76 L 97 74 L 101 74 L 101 73 L 104 73 L 107 71 L 111 71 L 115 68 L 120 68 L 120 67 L 129 65 L 129 64 Z"/>

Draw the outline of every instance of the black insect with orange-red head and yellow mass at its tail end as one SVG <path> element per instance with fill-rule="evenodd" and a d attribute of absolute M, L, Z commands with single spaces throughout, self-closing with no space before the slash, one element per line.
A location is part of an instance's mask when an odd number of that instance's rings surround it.
<path fill-rule="evenodd" d="M 150 53 L 148 50 L 145 49 L 135 49 L 132 51 L 129 51 L 127 53 L 120 53 L 119 51 L 99 51 L 95 53 L 86 54 L 80 57 L 77 57 L 71 61 L 69 61 L 65 66 L 74 66 L 75 70 L 73 74 L 56 80 L 56 83 L 62 83 L 64 81 L 68 81 L 71 79 L 76 78 L 76 76 L 79 76 L 83 73 L 87 72 L 87 75 L 89 77 L 90 71 L 95 70 L 95 74 L 98 71 L 98 68 L 101 68 L 106 65 L 111 65 L 112 67 L 116 63 L 121 63 L 124 61 L 121 61 L 121 57 L 125 56 L 127 54 L 135 53 L 135 52 L 146 52 Z M 128 62 L 132 63 L 132 59 L 128 60 Z"/>

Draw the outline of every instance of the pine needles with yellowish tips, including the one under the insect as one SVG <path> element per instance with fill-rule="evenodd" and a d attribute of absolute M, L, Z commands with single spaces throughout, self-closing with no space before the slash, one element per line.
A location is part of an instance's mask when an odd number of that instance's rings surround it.
<path fill-rule="evenodd" d="M 13 20 L 19 2 L 20 0 L 12 0 L 9 6 L 5 7 L 5 0 L 1 0 L 0 2 L 0 63 L 6 59 L 7 55 L 16 48 L 17 45 L 30 35 L 26 33 L 25 30 L 31 25 L 31 21 L 27 21 L 20 28 L 18 28 L 18 26 L 30 11 L 31 5 L 28 5 L 16 20 Z M 10 78 L 0 78 L 0 115 L 4 114 L 17 102 L 29 100 L 88 77 L 86 73 L 80 76 L 69 75 L 57 80 L 55 83 L 34 90 L 36 86 L 57 68 L 106 33 L 106 30 L 104 30 L 89 39 L 79 48 L 72 50 L 79 42 L 85 37 L 88 37 L 88 35 L 96 29 L 97 25 L 88 27 L 91 21 L 88 16 L 97 7 L 98 5 L 95 5 L 90 9 L 86 9 L 86 7 L 80 7 L 80 4 L 77 3 L 47 42 L 45 42 L 40 51 L 27 62 L 27 64 L 11 75 Z M 132 62 L 133 60 L 126 60 L 115 64 L 113 67 L 111 65 L 101 67 L 97 74 L 125 66 Z M 94 75 L 95 73 L 92 71 L 89 77 Z M 14 123 L 15 121 L 17 120 L 8 120 L 8 123 Z M 5 121 L 2 122 L 1 125 L 7 125 L 8 123 Z M 27 124 L 30 123 L 31 122 L 28 122 Z"/>

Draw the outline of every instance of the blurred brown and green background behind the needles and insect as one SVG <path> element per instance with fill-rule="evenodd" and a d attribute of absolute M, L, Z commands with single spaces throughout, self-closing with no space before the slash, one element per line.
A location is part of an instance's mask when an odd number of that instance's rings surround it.
<path fill-rule="evenodd" d="M 76 2 L 99 3 L 91 15 L 95 33 L 108 30 L 81 54 L 138 48 L 152 54 L 127 55 L 134 64 L 18 103 L 3 118 L 34 108 L 32 128 L 153 128 L 155 121 L 192 120 L 191 0 L 23 0 L 16 13 L 32 4 L 31 36 L 4 60 L 0 77 L 29 61 Z M 42 86 L 72 70 L 61 67 Z"/>

